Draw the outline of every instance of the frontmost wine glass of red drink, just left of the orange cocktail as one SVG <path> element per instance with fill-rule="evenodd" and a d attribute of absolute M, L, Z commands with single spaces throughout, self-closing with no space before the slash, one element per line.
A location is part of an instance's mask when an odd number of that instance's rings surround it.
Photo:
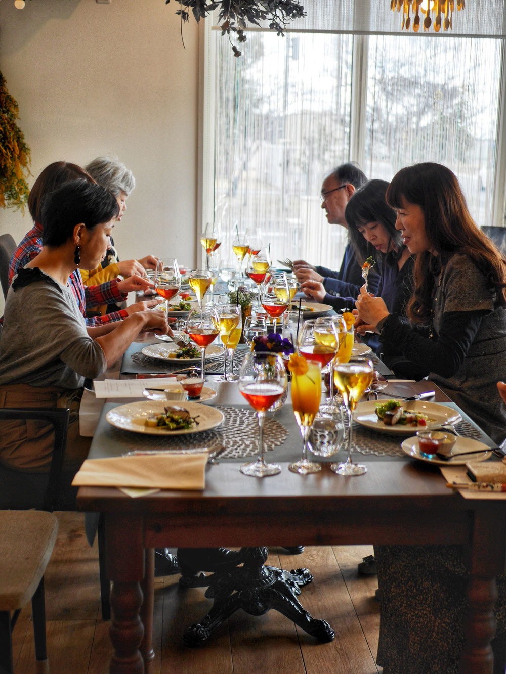
<path fill-rule="evenodd" d="M 256 410 L 258 417 L 258 458 L 241 466 L 241 472 L 253 477 L 266 477 L 281 472 L 278 464 L 264 462 L 262 434 L 266 410 L 281 398 L 286 388 L 286 371 L 281 357 L 275 353 L 248 353 L 239 371 L 239 390 Z"/>

